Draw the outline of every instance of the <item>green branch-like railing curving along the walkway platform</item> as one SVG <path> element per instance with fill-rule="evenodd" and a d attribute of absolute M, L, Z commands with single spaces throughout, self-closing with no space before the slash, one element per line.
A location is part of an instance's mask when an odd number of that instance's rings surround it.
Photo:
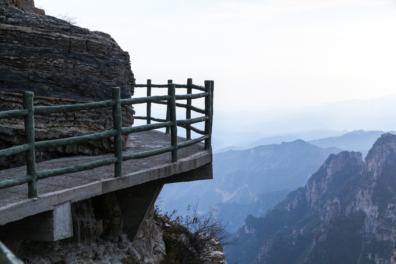
<path fill-rule="evenodd" d="M 187 80 L 187 84 L 172 84 L 172 80 L 168 80 L 168 84 L 156 85 L 151 84 L 151 80 L 147 80 L 147 84 L 137 84 L 135 87 L 147 87 L 147 97 L 120 99 L 120 88 L 112 88 L 112 100 L 85 103 L 85 104 L 71 104 L 59 106 L 33 106 L 33 93 L 23 93 L 23 110 L 10 110 L 0 112 L 0 119 L 3 118 L 18 118 L 24 117 L 25 123 L 25 138 L 26 143 L 20 146 L 6 148 L 0 150 L 0 158 L 26 152 L 26 174 L 25 176 L 17 177 L 11 180 L 3 180 L 0 182 L 0 189 L 9 188 L 21 184 L 28 184 L 29 198 L 37 198 L 37 180 L 46 179 L 64 175 L 68 173 L 75 173 L 79 171 L 86 171 L 98 167 L 110 165 L 114 163 L 114 177 L 121 176 L 122 161 L 132 159 L 142 159 L 151 156 L 156 156 L 166 152 L 172 152 L 172 162 L 177 162 L 177 150 L 197 144 L 198 142 L 205 141 L 205 149 L 211 148 L 211 130 L 213 120 L 213 81 L 205 81 L 205 86 L 192 84 L 192 79 Z M 168 95 L 151 96 L 151 87 L 167 87 Z M 175 88 L 187 88 L 187 94 L 176 95 Z M 192 89 L 203 91 L 203 93 L 192 93 Z M 191 105 L 191 100 L 196 98 L 205 97 L 205 109 L 197 108 Z M 176 103 L 176 100 L 187 100 L 187 104 Z M 131 104 L 147 103 L 147 116 L 135 116 L 135 119 L 147 120 L 147 125 L 139 125 L 135 127 L 121 127 L 121 106 Z M 166 119 L 152 118 L 151 117 L 151 103 L 166 104 L 167 114 Z M 91 110 L 97 108 L 106 108 L 112 106 L 113 125 L 114 129 L 104 131 L 101 133 L 84 135 L 80 137 L 72 137 L 65 139 L 55 139 L 48 141 L 34 142 L 34 114 L 52 114 L 75 112 L 80 110 Z M 187 109 L 186 119 L 176 119 L 176 106 Z M 191 110 L 204 114 L 205 116 L 199 118 L 191 118 Z M 152 124 L 151 121 L 160 123 Z M 205 122 L 205 130 L 202 131 L 193 127 L 191 124 Z M 187 139 L 189 141 L 177 144 L 177 126 L 183 127 L 187 130 Z M 156 150 L 122 154 L 122 135 L 148 131 L 152 129 L 166 128 L 166 132 L 171 134 L 171 146 L 160 148 Z M 194 131 L 202 137 L 191 139 L 191 132 Z M 100 140 L 109 137 L 114 137 L 114 157 L 105 158 L 102 160 L 91 161 L 88 163 L 74 165 L 71 167 L 50 169 L 44 171 L 36 171 L 35 149 L 38 148 L 52 148 L 59 146 L 66 146 L 69 144 L 78 144 L 88 141 Z"/>

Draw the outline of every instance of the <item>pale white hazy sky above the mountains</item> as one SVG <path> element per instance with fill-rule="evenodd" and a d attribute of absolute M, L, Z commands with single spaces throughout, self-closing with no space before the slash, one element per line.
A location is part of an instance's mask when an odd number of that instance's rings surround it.
<path fill-rule="evenodd" d="M 35 0 L 109 33 L 137 83 L 215 81 L 215 110 L 265 110 L 396 93 L 390 0 Z M 141 90 L 142 91 L 142 90 Z M 144 93 L 136 93 L 144 96 Z"/>

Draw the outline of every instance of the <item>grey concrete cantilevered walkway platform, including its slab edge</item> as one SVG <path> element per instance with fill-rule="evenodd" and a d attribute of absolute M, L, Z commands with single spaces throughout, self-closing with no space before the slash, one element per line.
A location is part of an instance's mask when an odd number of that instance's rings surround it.
<path fill-rule="evenodd" d="M 132 133 L 123 154 L 154 150 L 170 146 L 171 136 L 160 131 Z M 178 142 L 187 141 L 178 137 Z M 37 171 L 55 169 L 100 160 L 101 156 L 74 156 L 37 163 Z M 114 178 L 114 164 L 89 171 L 50 177 L 37 182 L 38 198 L 28 199 L 27 184 L 0 190 L 0 225 L 20 220 L 45 211 L 54 210 L 63 203 L 91 198 L 116 190 L 157 180 L 159 183 L 212 179 L 208 165 L 211 150 L 198 143 L 178 150 L 178 161 L 171 163 L 171 153 L 122 163 L 122 176 Z M 206 165 L 206 166 L 204 166 Z M 206 173 L 194 173 L 206 167 Z M 209 169 L 208 169 L 209 168 Z M 184 174 L 183 174 L 184 173 Z M 26 166 L 0 171 L 0 181 L 26 175 Z M 55 239 L 56 240 L 56 239 Z"/>

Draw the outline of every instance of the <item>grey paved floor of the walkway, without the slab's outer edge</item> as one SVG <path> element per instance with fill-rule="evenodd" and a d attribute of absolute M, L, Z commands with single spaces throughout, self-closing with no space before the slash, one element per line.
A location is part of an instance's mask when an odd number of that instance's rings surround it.
<path fill-rule="evenodd" d="M 139 133 L 132 133 L 129 135 L 126 150 L 123 154 L 142 152 L 147 150 L 154 150 L 170 146 L 170 135 L 160 131 L 145 131 Z M 187 141 L 185 138 L 178 137 L 178 143 Z M 182 148 L 177 151 L 178 160 L 195 156 L 196 154 L 204 152 L 204 144 L 198 143 L 187 148 Z M 74 156 L 68 158 L 60 158 L 37 163 L 37 171 L 46 169 L 56 169 L 62 167 L 69 167 L 72 165 L 82 164 L 90 161 L 100 160 L 103 158 L 113 157 L 113 154 L 106 154 L 100 156 Z M 136 174 L 139 171 L 147 171 L 150 168 L 158 167 L 159 165 L 166 165 L 171 163 L 171 153 L 164 153 L 158 156 L 144 158 L 140 160 L 128 160 L 122 162 L 122 177 L 128 177 L 131 174 Z M 161 166 L 160 166 L 161 167 Z M 163 167 L 163 166 L 162 166 Z M 0 180 L 14 179 L 19 176 L 26 175 L 26 166 L 17 167 L 13 169 L 6 169 L 0 171 Z M 50 177 L 37 182 L 38 197 L 48 196 L 49 193 L 55 193 L 62 190 L 76 188 L 78 186 L 87 185 L 94 182 L 103 182 L 105 179 L 114 177 L 114 164 L 99 167 L 89 171 L 81 171 L 78 173 L 70 173 L 66 175 Z M 27 184 L 14 186 L 11 188 L 0 190 L 0 213 L 5 207 L 23 201 L 28 198 Z"/>

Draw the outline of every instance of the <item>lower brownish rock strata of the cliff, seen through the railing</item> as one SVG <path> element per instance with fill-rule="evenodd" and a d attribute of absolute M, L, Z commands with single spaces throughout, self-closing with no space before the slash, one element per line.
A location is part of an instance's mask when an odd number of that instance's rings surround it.
<path fill-rule="evenodd" d="M 56 97 L 34 97 L 35 106 L 51 106 L 65 104 L 87 103 L 72 99 Z M 18 110 L 22 108 L 22 95 L 18 93 L 0 92 L 2 110 Z M 122 106 L 122 126 L 133 124 L 132 106 Z M 78 112 L 66 112 L 50 115 L 35 115 L 35 141 L 77 137 L 113 129 L 112 109 L 103 108 Z M 123 147 L 126 146 L 128 135 L 123 135 Z M 113 138 L 87 143 L 61 146 L 58 148 L 37 149 L 36 161 L 51 160 L 73 154 L 99 155 L 112 152 Z M 25 143 L 25 127 L 23 118 L 0 120 L 0 148 Z M 18 167 L 25 165 L 25 153 L 0 158 L 4 167 Z"/>

